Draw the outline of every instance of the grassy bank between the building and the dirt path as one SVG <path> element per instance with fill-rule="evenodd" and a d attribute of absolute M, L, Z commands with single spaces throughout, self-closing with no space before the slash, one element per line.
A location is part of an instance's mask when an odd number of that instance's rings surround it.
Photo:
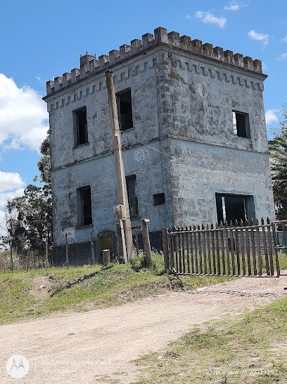
<path fill-rule="evenodd" d="M 163 273 L 162 255 L 153 255 L 153 267 L 144 268 L 143 257 L 132 264 L 109 264 L 51 268 L 36 271 L 0 272 L 0 323 L 20 321 L 53 311 L 87 311 L 103 306 L 125 304 L 141 297 L 159 295 L 167 290 L 190 290 L 221 283 L 231 278 L 220 276 L 169 276 Z M 65 285 L 89 273 L 93 277 Z M 46 295 L 39 285 L 50 286 Z M 34 288 L 34 289 L 33 289 Z M 46 288 L 47 290 L 47 288 Z M 44 289 L 45 291 L 45 289 Z"/>

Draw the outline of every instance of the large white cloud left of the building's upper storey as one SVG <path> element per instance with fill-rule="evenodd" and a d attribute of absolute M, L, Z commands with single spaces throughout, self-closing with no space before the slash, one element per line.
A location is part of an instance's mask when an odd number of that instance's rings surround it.
<path fill-rule="evenodd" d="M 46 103 L 34 89 L 18 88 L 0 73 L 0 148 L 39 150 L 48 130 Z"/>

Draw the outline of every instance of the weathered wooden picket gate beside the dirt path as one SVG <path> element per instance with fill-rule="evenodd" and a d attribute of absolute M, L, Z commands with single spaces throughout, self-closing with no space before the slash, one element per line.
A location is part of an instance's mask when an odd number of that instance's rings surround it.
<path fill-rule="evenodd" d="M 284 228 L 283 244 L 278 229 Z M 282 229 L 281 229 L 282 230 Z M 235 221 L 163 230 L 165 271 L 191 275 L 280 275 L 278 251 L 287 249 L 287 221 Z"/>

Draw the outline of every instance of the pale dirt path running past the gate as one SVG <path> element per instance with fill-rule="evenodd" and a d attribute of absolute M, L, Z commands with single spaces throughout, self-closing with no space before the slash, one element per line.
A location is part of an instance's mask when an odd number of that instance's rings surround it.
<path fill-rule="evenodd" d="M 0 327 L 0 383 L 15 383 L 6 361 L 22 354 L 30 371 L 21 384 L 132 383 L 133 359 L 164 348 L 195 324 L 267 304 L 286 295 L 287 275 L 241 278 L 123 306 Z"/>

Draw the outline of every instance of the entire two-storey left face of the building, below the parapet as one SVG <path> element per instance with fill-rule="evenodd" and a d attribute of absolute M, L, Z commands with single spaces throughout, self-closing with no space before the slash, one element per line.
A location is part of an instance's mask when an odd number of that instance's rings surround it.
<path fill-rule="evenodd" d="M 173 202 L 170 168 L 160 152 L 164 142 L 159 141 L 158 89 L 155 86 L 155 60 L 140 58 L 136 67 L 142 69 L 132 75 L 127 68 L 114 70 L 116 92 L 131 88 L 134 129 L 122 136 L 125 146 L 123 159 L 126 175 L 136 175 L 139 218 L 151 218 L 150 230 L 158 230 L 173 223 Z M 138 64 L 137 64 L 138 63 Z M 122 76 L 127 74 L 127 78 Z M 120 81 L 117 81 L 120 79 Z M 72 111 L 87 107 L 89 144 L 74 147 Z M 70 89 L 50 102 L 54 244 L 89 241 L 102 230 L 115 230 L 113 206 L 117 202 L 115 164 L 112 151 L 110 115 L 105 78 Z M 148 142 L 151 148 L 140 142 Z M 162 157 L 163 156 L 163 157 Z M 148 175 L 148 176 L 147 176 Z M 148 182 L 147 182 L 148 181 Z M 91 185 L 93 226 L 77 228 L 76 189 Z M 153 194 L 165 192 L 166 204 L 153 206 Z M 138 221 L 132 221 L 137 225 Z"/>

